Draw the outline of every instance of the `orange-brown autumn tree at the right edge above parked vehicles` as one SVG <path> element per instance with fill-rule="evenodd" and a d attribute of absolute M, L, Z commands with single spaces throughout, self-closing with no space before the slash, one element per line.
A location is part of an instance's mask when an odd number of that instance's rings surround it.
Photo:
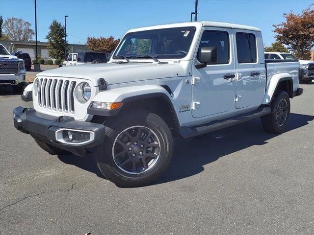
<path fill-rule="evenodd" d="M 314 9 L 313 4 L 295 15 L 292 11 L 284 14 L 286 22 L 274 24 L 275 38 L 281 44 L 287 45 L 296 57 L 309 59 L 309 51 L 314 47 Z"/>

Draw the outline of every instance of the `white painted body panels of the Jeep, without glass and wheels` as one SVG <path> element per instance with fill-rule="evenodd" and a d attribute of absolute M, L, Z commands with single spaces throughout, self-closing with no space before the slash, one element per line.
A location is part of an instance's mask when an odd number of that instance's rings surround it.
<path fill-rule="evenodd" d="M 34 108 L 38 112 L 53 116 L 67 115 L 77 120 L 88 121 L 92 116 L 87 114 L 87 107 L 92 101 L 120 102 L 125 98 L 140 94 L 162 93 L 169 97 L 179 125 L 183 127 L 229 118 L 258 109 L 262 104 L 271 101 L 281 77 L 292 77 L 293 90 L 298 88 L 298 62 L 267 64 L 266 72 L 262 33 L 255 27 L 194 22 L 138 28 L 127 33 L 184 26 L 194 26 L 196 31 L 188 53 L 180 60 L 160 59 L 168 63 L 158 64 L 152 59 L 136 59 L 138 63 L 117 64 L 116 61 L 125 60 L 116 60 L 111 57 L 106 64 L 80 65 L 75 68 L 67 66 L 39 73 L 36 78 L 75 80 L 77 84 L 86 81 L 92 87 L 92 95 L 85 104 L 79 103 L 75 98 L 75 114 L 67 114 L 39 107 L 36 103 L 38 97 L 33 93 Z M 196 54 L 205 30 L 228 32 L 230 47 L 228 64 L 207 65 L 205 68 L 196 69 L 195 63 L 199 63 Z M 239 64 L 237 62 L 236 32 L 249 32 L 255 35 L 256 63 Z M 251 76 L 251 72 L 259 72 L 259 75 Z M 224 79 L 223 75 L 226 73 L 234 73 L 235 78 Z M 99 91 L 97 84 L 99 78 L 105 79 L 107 90 Z M 172 94 L 169 94 L 162 86 L 168 86 Z M 197 103 L 200 104 L 198 107 L 195 105 Z M 182 112 L 182 106 L 189 109 Z"/>

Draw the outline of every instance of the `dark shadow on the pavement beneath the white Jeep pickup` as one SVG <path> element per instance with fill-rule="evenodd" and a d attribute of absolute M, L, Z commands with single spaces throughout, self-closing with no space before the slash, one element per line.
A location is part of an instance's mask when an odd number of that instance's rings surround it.
<path fill-rule="evenodd" d="M 312 120 L 314 116 L 291 113 L 286 132 L 305 126 Z M 257 118 L 189 140 L 176 138 L 172 162 L 155 184 L 198 174 L 204 170 L 204 165 L 220 157 L 253 145 L 267 144 L 267 141 L 275 136 L 277 135 L 266 133 L 262 128 L 260 118 Z M 81 158 L 75 155 L 59 155 L 58 158 L 66 164 L 76 165 L 105 178 L 99 171 L 93 156 Z"/>

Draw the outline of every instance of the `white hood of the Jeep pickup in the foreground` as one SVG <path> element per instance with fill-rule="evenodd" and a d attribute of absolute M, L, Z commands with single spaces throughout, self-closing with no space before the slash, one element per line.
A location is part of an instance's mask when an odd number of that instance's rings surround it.
<path fill-rule="evenodd" d="M 188 75 L 180 63 L 158 64 L 158 63 L 104 63 L 85 64 L 61 67 L 54 70 L 43 71 L 38 76 L 72 77 L 97 81 L 104 78 L 108 85 L 167 78 Z M 180 65 L 181 64 L 181 65 Z"/>

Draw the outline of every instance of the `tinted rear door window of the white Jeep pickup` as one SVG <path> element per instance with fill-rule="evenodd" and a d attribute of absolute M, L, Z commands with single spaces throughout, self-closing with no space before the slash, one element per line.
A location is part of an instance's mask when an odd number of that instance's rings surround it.
<path fill-rule="evenodd" d="M 256 63 L 256 39 L 252 33 L 236 33 L 236 51 L 238 63 Z"/>

